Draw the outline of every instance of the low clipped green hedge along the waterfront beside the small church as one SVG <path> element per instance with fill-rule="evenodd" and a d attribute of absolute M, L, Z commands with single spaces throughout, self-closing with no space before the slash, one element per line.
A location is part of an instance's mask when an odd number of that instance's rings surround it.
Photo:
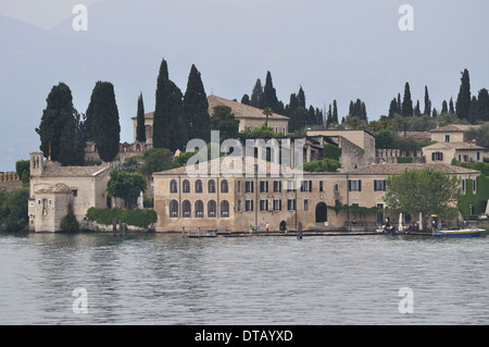
<path fill-rule="evenodd" d="M 96 208 L 88 209 L 87 218 L 103 225 L 111 225 L 112 220 L 115 219 L 127 225 L 145 228 L 148 228 L 158 220 L 156 212 L 153 210 L 118 210 Z"/>

